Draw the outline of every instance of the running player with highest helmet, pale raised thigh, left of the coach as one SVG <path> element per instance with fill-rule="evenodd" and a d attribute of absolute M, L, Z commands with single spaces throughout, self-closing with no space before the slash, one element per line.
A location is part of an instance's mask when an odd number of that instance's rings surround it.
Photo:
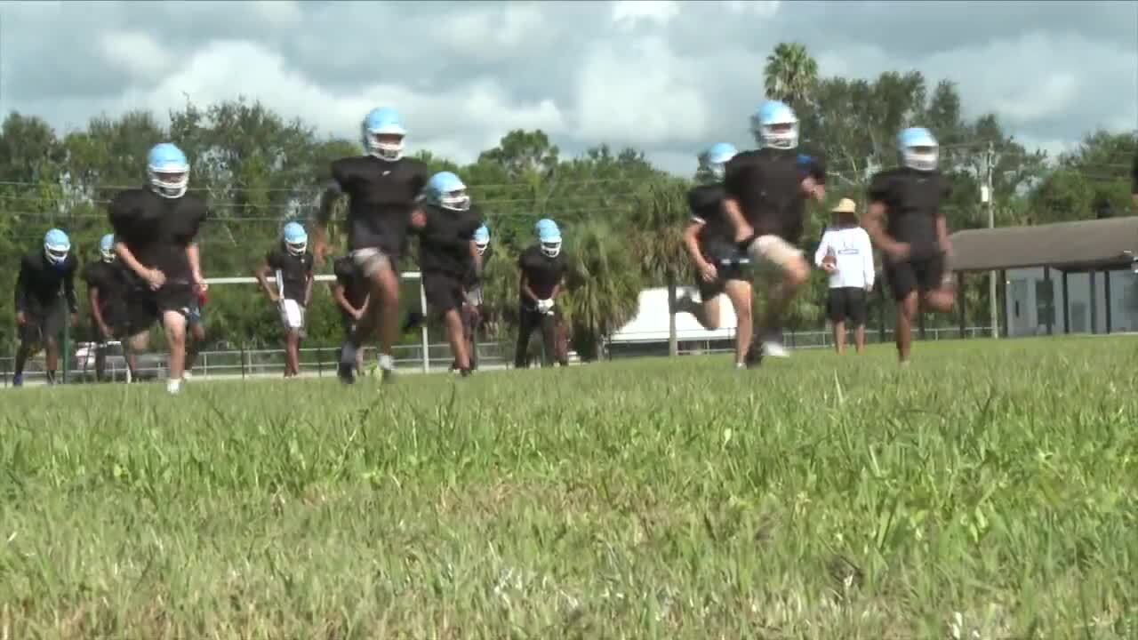
<path fill-rule="evenodd" d="M 736 154 L 724 178 L 724 214 L 756 265 L 773 266 L 781 281 L 767 293 L 766 313 L 747 352 L 747 364 L 762 355 L 786 358 L 782 322 L 786 309 L 806 282 L 809 265 L 795 246 L 802 236 L 806 200 L 825 198 L 820 163 L 800 157 L 798 117 L 783 102 L 768 100 L 751 116 L 759 148 Z"/>

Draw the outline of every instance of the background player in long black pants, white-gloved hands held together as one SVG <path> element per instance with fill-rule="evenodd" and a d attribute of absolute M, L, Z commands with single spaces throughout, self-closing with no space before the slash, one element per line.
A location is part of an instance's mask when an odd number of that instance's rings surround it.
<path fill-rule="evenodd" d="M 514 352 L 513 366 L 523 369 L 528 359 L 529 336 L 541 327 L 545 343 L 543 367 L 551 367 L 551 355 L 562 367 L 569 366 L 568 354 L 558 339 L 558 310 L 554 301 L 561 293 L 561 281 L 568 271 L 568 262 L 561 255 L 561 230 L 556 222 L 550 219 L 538 220 L 534 227 L 537 232 L 537 244 L 531 245 L 518 256 L 518 269 L 521 271 L 521 282 L 518 286 L 518 348 Z"/>

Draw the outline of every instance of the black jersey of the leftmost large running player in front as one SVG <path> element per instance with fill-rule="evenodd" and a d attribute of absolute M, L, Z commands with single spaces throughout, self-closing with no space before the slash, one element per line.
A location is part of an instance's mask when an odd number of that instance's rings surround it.
<path fill-rule="evenodd" d="M 206 205 L 193 194 L 164 198 L 150 189 L 127 189 L 110 203 L 115 240 L 124 243 L 143 266 L 157 269 L 166 280 L 190 278 L 185 249 L 206 219 Z"/>

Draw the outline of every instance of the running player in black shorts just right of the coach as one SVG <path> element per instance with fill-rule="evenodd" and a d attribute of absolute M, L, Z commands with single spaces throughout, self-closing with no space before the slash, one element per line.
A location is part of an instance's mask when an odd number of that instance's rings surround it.
<path fill-rule="evenodd" d="M 953 244 L 940 212 L 951 184 L 937 169 L 937 139 L 927 129 L 912 126 L 897 136 L 897 147 L 901 166 L 873 177 L 861 224 L 884 253 L 885 281 L 897 301 L 897 356 L 905 367 L 918 305 L 949 313 L 956 292 L 948 268 Z"/>

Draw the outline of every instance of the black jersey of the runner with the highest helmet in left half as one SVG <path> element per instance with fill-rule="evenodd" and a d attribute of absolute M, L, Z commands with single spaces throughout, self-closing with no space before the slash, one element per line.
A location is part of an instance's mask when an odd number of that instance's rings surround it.
<path fill-rule="evenodd" d="M 427 165 L 414 158 L 387 162 L 357 156 L 332 163 L 332 180 L 348 195 L 346 228 L 352 249 L 379 248 L 399 256 Z"/>

